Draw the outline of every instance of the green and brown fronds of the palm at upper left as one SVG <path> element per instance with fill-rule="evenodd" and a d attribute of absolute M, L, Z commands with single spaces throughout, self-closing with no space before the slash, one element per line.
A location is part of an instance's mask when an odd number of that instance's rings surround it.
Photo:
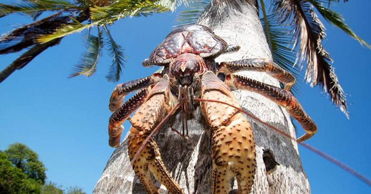
<path fill-rule="evenodd" d="M 49 47 L 58 45 L 63 37 L 83 30 L 88 31 L 85 36 L 87 48 L 70 77 L 91 76 L 105 43 L 112 56 L 112 65 L 106 78 L 117 81 L 125 55 L 111 36 L 108 26 L 118 19 L 174 10 L 178 5 L 179 2 L 175 0 L 22 0 L 12 4 L 0 3 L 0 17 L 20 13 L 36 20 L 44 13 L 50 14 L 0 38 L 0 54 L 27 49 L 0 72 L 0 83 Z"/>

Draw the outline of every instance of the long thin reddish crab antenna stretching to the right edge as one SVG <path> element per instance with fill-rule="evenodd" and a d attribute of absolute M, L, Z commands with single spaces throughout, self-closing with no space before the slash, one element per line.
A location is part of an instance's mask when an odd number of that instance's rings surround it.
<path fill-rule="evenodd" d="M 262 121 L 261 119 L 257 118 L 256 116 L 250 114 L 249 112 L 243 110 L 242 108 L 239 108 L 237 106 L 234 106 L 232 104 L 229 104 L 227 102 L 223 102 L 223 101 L 218 101 L 218 100 L 212 100 L 212 99 L 200 99 L 200 98 L 195 98 L 193 99 L 194 101 L 198 101 L 198 102 L 216 102 L 216 103 L 222 103 L 222 104 L 225 104 L 225 105 L 228 105 L 228 106 L 231 106 L 241 112 L 243 112 L 244 114 L 246 114 L 247 116 L 253 118 L 254 120 L 256 121 L 259 121 L 260 123 L 262 123 L 263 125 L 267 126 L 268 128 L 271 128 L 273 129 L 274 131 L 278 132 L 279 134 L 285 136 L 285 137 L 288 137 L 296 142 L 298 142 L 298 144 L 302 145 L 303 147 L 311 150 L 312 152 L 316 153 L 317 155 L 321 156 L 322 158 L 325 158 L 326 160 L 332 162 L 333 164 L 337 165 L 338 167 L 342 168 L 343 170 L 349 172 L 350 174 L 354 175 L 355 177 L 357 177 L 359 180 L 363 181 L 364 183 L 368 184 L 369 186 L 371 186 L 371 180 L 368 179 L 367 177 L 365 177 L 364 175 L 362 175 L 361 173 L 355 171 L 354 169 L 352 169 L 351 167 L 348 167 L 346 164 L 336 160 L 334 157 L 331 157 L 330 155 L 322 152 L 322 151 L 319 151 L 318 149 L 316 149 L 315 147 L 312 147 L 311 145 L 309 144 L 306 144 L 306 143 L 303 143 L 303 142 L 299 142 L 298 140 L 296 140 L 296 138 L 294 137 L 291 137 L 289 134 L 286 134 L 285 132 L 283 132 L 282 130 L 276 128 L 275 126 L 273 125 L 270 125 L 270 124 L 267 124 L 266 122 Z"/>

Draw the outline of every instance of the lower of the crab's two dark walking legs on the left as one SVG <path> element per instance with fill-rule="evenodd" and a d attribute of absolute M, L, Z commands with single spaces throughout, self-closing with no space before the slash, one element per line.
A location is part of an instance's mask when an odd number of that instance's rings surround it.
<path fill-rule="evenodd" d="M 132 114 L 135 109 L 142 105 L 144 100 L 149 94 L 149 88 L 143 89 L 132 96 L 128 101 L 126 101 L 120 108 L 118 108 L 109 117 L 108 122 L 108 144 L 111 147 L 118 147 L 120 145 L 120 138 L 122 130 L 124 129 L 121 125 L 125 120 Z"/>

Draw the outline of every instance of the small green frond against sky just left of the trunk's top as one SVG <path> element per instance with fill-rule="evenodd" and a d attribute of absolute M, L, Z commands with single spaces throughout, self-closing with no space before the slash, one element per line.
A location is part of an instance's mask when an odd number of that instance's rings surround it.
<path fill-rule="evenodd" d="M 173 27 L 179 27 L 186 24 L 196 24 L 198 18 L 200 18 L 209 4 L 210 0 L 194 1 L 186 9 L 177 14 Z"/>

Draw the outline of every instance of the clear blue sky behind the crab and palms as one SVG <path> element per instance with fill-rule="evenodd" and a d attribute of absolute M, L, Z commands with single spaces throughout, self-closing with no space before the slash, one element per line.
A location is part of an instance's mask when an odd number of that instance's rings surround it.
<path fill-rule="evenodd" d="M 371 1 L 333 3 L 331 7 L 345 17 L 359 36 L 371 43 Z M 170 32 L 175 16 L 176 13 L 165 13 L 124 19 L 111 27 L 112 36 L 129 57 L 119 82 L 155 71 L 143 68 L 141 61 Z M 0 21 L 1 33 L 30 22 L 17 15 Z M 298 99 L 318 125 L 318 133 L 308 143 L 371 178 L 368 154 L 371 148 L 371 50 L 324 23 L 328 34 L 325 49 L 334 59 L 336 73 L 348 94 L 351 119 L 331 105 L 321 89 L 302 84 Z M 111 64 L 106 51 L 95 75 L 67 79 L 84 49 L 81 37 L 82 34 L 75 34 L 64 38 L 60 45 L 48 49 L 0 84 L 0 149 L 14 142 L 26 144 L 46 165 L 48 180 L 64 187 L 76 185 L 91 193 L 114 151 L 108 146 L 107 124 L 108 100 L 116 83 L 105 80 Z M 0 56 L 0 68 L 5 68 L 17 56 Z M 126 123 L 125 129 L 128 128 Z M 303 133 L 301 128 L 298 132 Z M 371 192 L 368 185 L 339 167 L 303 147 L 299 147 L 299 151 L 312 193 Z"/>

